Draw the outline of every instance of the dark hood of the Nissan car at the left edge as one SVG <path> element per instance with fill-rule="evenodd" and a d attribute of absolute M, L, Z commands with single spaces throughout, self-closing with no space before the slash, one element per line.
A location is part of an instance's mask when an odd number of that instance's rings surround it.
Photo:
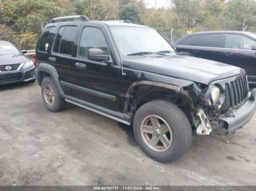
<path fill-rule="evenodd" d="M 25 55 L 0 55 L 0 66 L 25 63 L 26 61 L 29 61 L 29 58 Z"/>

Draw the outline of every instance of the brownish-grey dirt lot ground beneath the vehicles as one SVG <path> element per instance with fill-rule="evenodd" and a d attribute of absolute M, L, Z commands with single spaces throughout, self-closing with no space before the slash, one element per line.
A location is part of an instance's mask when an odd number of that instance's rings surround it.
<path fill-rule="evenodd" d="M 0 98 L 0 185 L 256 185 L 256 116 L 162 164 L 129 126 L 77 106 L 48 112 L 37 84 L 0 87 Z"/>

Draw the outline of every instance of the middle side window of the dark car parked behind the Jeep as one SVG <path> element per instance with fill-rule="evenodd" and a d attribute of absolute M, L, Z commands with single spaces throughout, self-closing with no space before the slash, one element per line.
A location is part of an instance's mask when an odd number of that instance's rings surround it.
<path fill-rule="evenodd" d="M 220 47 L 222 34 L 204 34 L 197 42 L 198 47 Z"/>

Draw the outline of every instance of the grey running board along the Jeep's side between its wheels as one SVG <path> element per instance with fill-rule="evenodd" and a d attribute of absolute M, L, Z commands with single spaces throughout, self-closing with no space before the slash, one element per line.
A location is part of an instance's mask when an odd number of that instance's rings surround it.
<path fill-rule="evenodd" d="M 106 109 L 102 106 L 97 106 L 95 104 L 91 104 L 87 101 L 83 101 L 83 100 L 80 100 L 78 98 L 74 98 L 74 97 L 69 96 L 69 95 L 64 95 L 64 99 L 65 99 L 65 101 L 69 102 L 70 104 L 74 104 L 76 106 L 83 107 L 84 109 L 88 109 L 91 112 L 101 114 L 101 115 L 103 115 L 105 117 L 108 117 L 112 120 L 122 122 L 126 125 L 131 125 L 132 124 L 132 122 L 129 122 L 128 119 L 124 118 L 124 114 L 121 113 L 121 112 L 115 112 L 113 110 Z"/>

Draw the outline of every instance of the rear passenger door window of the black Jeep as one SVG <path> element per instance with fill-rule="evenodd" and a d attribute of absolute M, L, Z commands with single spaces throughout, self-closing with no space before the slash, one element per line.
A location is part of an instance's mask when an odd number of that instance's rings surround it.
<path fill-rule="evenodd" d="M 61 26 L 56 36 L 53 52 L 72 55 L 77 26 Z"/>

